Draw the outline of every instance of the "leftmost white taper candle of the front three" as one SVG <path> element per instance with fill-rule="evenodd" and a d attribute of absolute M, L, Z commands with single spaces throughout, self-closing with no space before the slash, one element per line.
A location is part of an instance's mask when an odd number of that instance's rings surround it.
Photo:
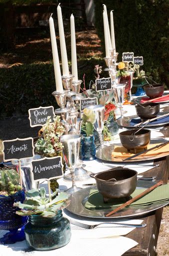
<path fill-rule="evenodd" d="M 60 64 L 59 64 L 59 56 L 58 56 L 56 35 L 55 35 L 54 22 L 53 22 L 52 14 L 49 18 L 49 27 L 50 27 L 50 38 L 51 38 L 51 45 L 52 45 L 56 90 L 59 92 L 59 91 L 63 91 L 63 85 L 62 85 L 62 78 L 61 78 Z"/>

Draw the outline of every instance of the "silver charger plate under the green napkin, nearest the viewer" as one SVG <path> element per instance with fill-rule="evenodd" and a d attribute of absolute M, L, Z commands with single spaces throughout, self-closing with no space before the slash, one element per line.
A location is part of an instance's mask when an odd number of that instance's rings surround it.
<path fill-rule="evenodd" d="M 152 203 L 150 205 L 143 206 L 131 206 L 125 207 L 118 212 L 114 213 L 112 216 L 105 217 L 112 209 L 87 209 L 85 208 L 85 202 L 88 200 L 89 192 L 91 188 L 97 188 L 95 185 L 87 188 L 78 190 L 77 192 L 70 195 L 70 204 L 66 207 L 68 211 L 83 217 L 90 218 L 130 218 L 139 215 L 145 215 L 151 211 L 157 210 L 161 207 L 166 206 L 169 200 L 161 203 Z M 143 188 L 143 187 L 137 187 Z"/>

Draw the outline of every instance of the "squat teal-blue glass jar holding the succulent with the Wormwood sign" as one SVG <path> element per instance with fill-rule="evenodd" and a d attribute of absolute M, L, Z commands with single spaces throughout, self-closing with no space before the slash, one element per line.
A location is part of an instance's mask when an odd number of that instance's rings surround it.
<path fill-rule="evenodd" d="M 56 249 L 70 241 L 70 222 L 63 217 L 62 210 L 54 217 L 30 215 L 24 228 L 25 239 L 30 248 L 36 250 Z"/>

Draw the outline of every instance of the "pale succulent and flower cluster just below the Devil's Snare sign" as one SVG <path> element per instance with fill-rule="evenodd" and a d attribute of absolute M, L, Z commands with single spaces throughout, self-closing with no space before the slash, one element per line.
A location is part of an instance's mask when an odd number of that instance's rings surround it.
<path fill-rule="evenodd" d="M 59 137 L 64 133 L 65 129 L 60 121 L 60 116 L 56 115 L 53 122 L 51 117 L 48 116 L 46 123 L 43 126 L 44 137 L 40 137 L 35 143 L 37 153 L 50 154 L 56 153 L 63 148 Z"/>

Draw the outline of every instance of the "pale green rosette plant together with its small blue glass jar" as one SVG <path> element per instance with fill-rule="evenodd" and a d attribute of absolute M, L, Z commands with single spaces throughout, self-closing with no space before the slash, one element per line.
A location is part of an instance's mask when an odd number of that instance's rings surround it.
<path fill-rule="evenodd" d="M 92 109 L 84 108 L 81 126 L 81 154 L 82 160 L 96 159 L 96 147 L 94 143 L 94 126 L 96 117 Z"/>

